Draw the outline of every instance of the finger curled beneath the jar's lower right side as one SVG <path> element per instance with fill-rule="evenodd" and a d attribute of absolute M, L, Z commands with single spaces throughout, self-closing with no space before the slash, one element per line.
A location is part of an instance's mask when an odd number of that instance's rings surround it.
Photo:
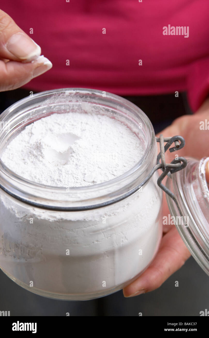
<path fill-rule="evenodd" d="M 150 266 L 139 278 L 124 288 L 124 296 L 137 296 L 159 288 L 185 263 L 190 252 L 174 226 L 162 239 L 160 249 Z"/>

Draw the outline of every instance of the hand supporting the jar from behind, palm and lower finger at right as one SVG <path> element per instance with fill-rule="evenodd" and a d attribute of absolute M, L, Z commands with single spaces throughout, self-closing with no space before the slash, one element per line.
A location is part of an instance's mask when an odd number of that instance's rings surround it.
<path fill-rule="evenodd" d="M 209 121 L 209 99 L 202 104 L 196 114 L 182 116 L 162 131 L 164 137 L 181 135 L 185 139 L 184 148 L 177 151 L 178 156 L 191 156 L 196 159 L 209 156 L 209 130 L 200 128 L 202 121 L 204 124 L 205 121 Z M 166 163 L 170 163 L 172 159 L 172 153 L 167 152 Z M 209 163 L 205 167 L 205 175 L 209 183 Z M 168 215 L 169 209 L 165 196 L 163 200 L 163 215 Z M 148 269 L 124 289 L 126 297 L 157 289 L 189 258 L 190 252 L 175 225 L 164 225 L 163 232 L 164 236 L 158 254 Z"/>

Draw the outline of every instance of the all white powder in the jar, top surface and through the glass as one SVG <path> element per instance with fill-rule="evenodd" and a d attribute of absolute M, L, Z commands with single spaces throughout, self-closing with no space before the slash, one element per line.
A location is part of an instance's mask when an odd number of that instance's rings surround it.
<path fill-rule="evenodd" d="M 2 160 L 35 182 L 80 186 L 123 174 L 142 149 L 129 128 L 109 117 L 54 114 L 27 126 Z M 59 299 L 91 299 L 122 288 L 159 246 L 157 177 L 121 202 L 82 212 L 34 208 L 2 191 L 1 268 L 28 290 Z"/>

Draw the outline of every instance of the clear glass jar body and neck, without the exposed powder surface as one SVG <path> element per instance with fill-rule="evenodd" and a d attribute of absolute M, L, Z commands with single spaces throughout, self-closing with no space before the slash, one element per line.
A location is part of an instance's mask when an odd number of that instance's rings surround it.
<path fill-rule="evenodd" d="M 125 287 L 150 264 L 162 237 L 162 191 L 155 172 L 133 193 L 156 164 L 149 119 L 126 99 L 97 90 L 46 91 L 7 108 L 0 116 L 0 157 L 27 125 L 73 111 L 125 123 L 144 155 L 119 177 L 76 188 L 31 182 L 0 160 L 0 267 L 36 294 L 84 300 Z"/>

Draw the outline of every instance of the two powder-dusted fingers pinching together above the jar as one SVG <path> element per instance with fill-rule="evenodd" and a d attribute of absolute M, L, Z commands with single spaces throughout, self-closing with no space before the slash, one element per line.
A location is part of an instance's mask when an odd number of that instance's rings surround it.
<path fill-rule="evenodd" d="M 0 10 L 0 91 L 19 88 L 52 67 L 41 48 Z"/>

